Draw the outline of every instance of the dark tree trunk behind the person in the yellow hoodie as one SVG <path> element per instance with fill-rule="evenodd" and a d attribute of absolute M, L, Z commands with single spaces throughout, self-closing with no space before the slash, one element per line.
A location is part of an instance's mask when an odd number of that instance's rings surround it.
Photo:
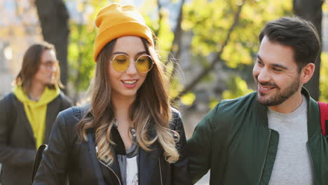
<path fill-rule="evenodd" d="M 43 39 L 55 46 L 60 62 L 61 81 L 67 85 L 67 46 L 69 36 L 69 14 L 62 0 L 36 0 Z"/>

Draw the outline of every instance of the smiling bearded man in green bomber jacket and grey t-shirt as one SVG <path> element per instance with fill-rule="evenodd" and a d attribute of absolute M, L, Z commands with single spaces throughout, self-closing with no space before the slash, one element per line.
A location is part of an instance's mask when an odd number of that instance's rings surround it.
<path fill-rule="evenodd" d="M 301 18 L 280 18 L 259 42 L 257 91 L 219 102 L 188 141 L 193 182 L 210 170 L 210 184 L 328 184 L 320 110 L 303 88 L 320 54 L 317 32 Z"/>

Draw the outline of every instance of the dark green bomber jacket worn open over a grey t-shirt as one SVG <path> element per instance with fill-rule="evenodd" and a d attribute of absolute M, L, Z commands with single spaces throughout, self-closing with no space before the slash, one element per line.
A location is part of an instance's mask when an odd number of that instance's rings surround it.
<path fill-rule="evenodd" d="M 322 135 L 317 102 L 308 100 L 308 151 L 315 185 L 328 184 L 328 142 Z M 210 184 L 268 184 L 279 133 L 268 128 L 267 107 L 257 93 L 217 104 L 197 125 L 187 152 L 193 181 L 210 170 Z"/>

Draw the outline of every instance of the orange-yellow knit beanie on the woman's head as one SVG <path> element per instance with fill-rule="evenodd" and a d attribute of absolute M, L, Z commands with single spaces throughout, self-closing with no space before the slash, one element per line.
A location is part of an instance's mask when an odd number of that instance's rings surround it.
<path fill-rule="evenodd" d="M 98 28 L 93 49 L 95 62 L 102 48 L 121 36 L 140 36 L 153 46 L 153 32 L 146 26 L 144 18 L 134 6 L 110 4 L 97 13 L 95 25 Z"/>

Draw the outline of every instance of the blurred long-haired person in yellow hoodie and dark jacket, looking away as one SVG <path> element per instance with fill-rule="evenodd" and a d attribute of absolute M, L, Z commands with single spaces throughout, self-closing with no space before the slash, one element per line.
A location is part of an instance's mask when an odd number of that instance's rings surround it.
<path fill-rule="evenodd" d="M 36 149 L 48 143 L 57 114 L 71 107 L 60 86 L 53 45 L 30 46 L 13 92 L 0 100 L 1 184 L 31 184 Z"/>

